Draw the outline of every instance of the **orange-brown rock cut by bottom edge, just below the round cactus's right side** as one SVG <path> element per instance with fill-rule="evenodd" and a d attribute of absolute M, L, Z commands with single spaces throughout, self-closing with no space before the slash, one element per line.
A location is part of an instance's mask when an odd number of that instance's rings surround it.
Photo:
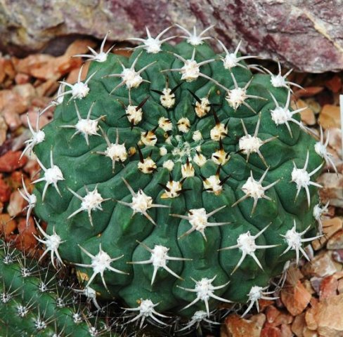
<path fill-rule="evenodd" d="M 226 334 L 229 337 L 260 337 L 265 320 L 264 314 L 254 315 L 251 319 L 244 319 L 235 314 L 228 315 L 224 322 Z"/>

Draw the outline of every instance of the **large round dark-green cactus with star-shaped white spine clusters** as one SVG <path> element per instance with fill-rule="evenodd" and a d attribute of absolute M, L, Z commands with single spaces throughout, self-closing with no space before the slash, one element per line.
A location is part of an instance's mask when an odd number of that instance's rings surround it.
<path fill-rule="evenodd" d="M 53 121 L 31 127 L 26 151 L 41 166 L 31 206 L 53 263 L 74 264 L 130 322 L 177 315 L 190 328 L 221 302 L 273 297 L 271 277 L 308 258 L 328 153 L 291 107 L 289 73 L 178 27 L 174 46 L 170 28 L 147 30 L 130 58 L 105 40 L 81 55 L 86 79 L 61 82 Z"/>

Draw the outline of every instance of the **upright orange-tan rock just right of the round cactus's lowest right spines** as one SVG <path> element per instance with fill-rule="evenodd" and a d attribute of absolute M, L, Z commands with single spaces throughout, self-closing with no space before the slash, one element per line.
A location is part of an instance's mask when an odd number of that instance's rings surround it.
<path fill-rule="evenodd" d="M 294 284 L 287 284 L 280 293 L 281 300 L 291 315 L 301 314 L 311 300 L 311 294 L 299 280 Z"/>

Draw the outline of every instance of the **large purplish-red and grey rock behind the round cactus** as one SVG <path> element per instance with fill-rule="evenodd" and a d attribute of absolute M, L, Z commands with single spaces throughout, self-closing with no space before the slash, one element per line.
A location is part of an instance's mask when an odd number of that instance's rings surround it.
<path fill-rule="evenodd" d="M 317 0 L 0 0 L 0 49 L 22 55 L 56 37 L 144 37 L 177 22 L 214 32 L 228 47 L 306 72 L 343 69 L 343 6 Z M 53 50 L 65 48 L 65 39 Z M 67 43 L 67 42 L 65 42 Z M 60 45 L 59 45 L 60 44 Z M 51 45 L 50 45 L 51 46 Z"/>

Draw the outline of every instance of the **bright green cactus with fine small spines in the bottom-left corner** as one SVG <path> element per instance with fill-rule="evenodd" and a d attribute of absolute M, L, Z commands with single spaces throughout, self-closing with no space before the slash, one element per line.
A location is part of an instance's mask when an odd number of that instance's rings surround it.
<path fill-rule="evenodd" d="M 53 268 L 0 240 L 0 336 L 119 336 Z"/>

